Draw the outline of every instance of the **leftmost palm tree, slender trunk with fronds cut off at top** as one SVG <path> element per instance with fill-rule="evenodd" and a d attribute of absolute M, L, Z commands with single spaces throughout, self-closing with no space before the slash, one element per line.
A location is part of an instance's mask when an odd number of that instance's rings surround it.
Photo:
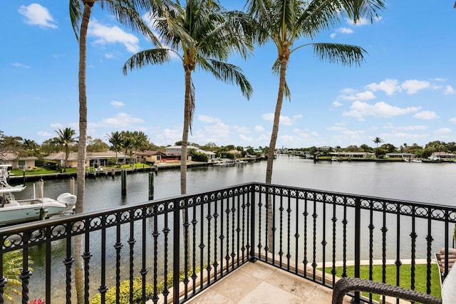
<path fill-rule="evenodd" d="M 163 0 L 167 1 L 167 0 Z M 86 41 L 88 22 L 92 7 L 98 2 L 102 9 L 113 13 L 115 19 L 133 31 L 138 31 L 154 43 L 159 43 L 147 24 L 141 19 L 140 12 L 153 10 L 160 0 L 70 0 L 70 19 L 76 39 L 79 43 L 79 145 L 78 145 L 78 203 L 76 213 L 84 211 L 84 196 L 86 192 L 86 140 L 87 140 L 87 95 L 86 95 Z M 77 252 L 75 281 L 78 304 L 83 303 L 83 273 L 82 273 L 82 237 L 76 237 L 74 251 Z"/>

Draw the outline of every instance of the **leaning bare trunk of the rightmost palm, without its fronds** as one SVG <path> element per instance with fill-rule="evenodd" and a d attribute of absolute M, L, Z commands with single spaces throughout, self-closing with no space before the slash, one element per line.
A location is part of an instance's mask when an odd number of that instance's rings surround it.
<path fill-rule="evenodd" d="M 282 108 L 282 103 L 284 101 L 284 90 L 285 90 L 285 75 L 286 75 L 286 64 L 288 62 L 287 57 L 283 57 L 280 63 L 280 78 L 279 78 L 279 93 L 277 94 L 277 103 L 276 103 L 276 112 L 274 112 L 274 123 L 272 126 L 271 133 L 271 142 L 269 143 L 268 150 L 268 162 L 266 164 L 266 184 L 271 184 L 272 182 L 272 164 L 274 162 L 274 152 L 276 150 L 277 135 L 279 134 L 279 122 L 280 122 L 280 112 Z M 266 231 L 268 243 L 266 244 L 266 250 L 272 252 L 272 243 L 273 243 L 273 231 L 274 231 L 274 221 L 272 210 L 272 195 L 268 194 L 267 198 L 267 207 L 266 207 L 266 221 L 268 225 L 268 231 Z M 273 257 L 274 258 L 274 257 Z"/>

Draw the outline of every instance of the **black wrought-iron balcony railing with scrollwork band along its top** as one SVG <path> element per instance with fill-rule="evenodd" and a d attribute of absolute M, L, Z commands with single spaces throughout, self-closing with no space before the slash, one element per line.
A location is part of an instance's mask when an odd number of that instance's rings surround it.
<path fill-rule="evenodd" d="M 362 265 L 369 279 L 381 272 L 386 281 L 388 264 L 398 285 L 406 268 L 405 287 L 431 293 L 434 252 L 453 246 L 455 222 L 453 206 L 242 184 L 2 228 L 0 303 L 14 287 L 4 267 L 10 251 L 21 254 L 22 303 L 76 303 L 78 269 L 85 303 L 118 303 L 125 293 L 130 303 L 204 303 L 255 269 L 308 282 L 312 292 L 298 296 L 321 300 L 338 278 L 360 277 Z M 418 263 L 425 276 L 415 273 Z M 350 296 L 375 303 L 371 294 Z"/>

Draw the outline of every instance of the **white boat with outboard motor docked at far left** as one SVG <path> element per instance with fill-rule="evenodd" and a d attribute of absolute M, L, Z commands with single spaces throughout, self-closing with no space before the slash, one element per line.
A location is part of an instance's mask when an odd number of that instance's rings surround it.
<path fill-rule="evenodd" d="M 26 189 L 24 184 L 11 186 L 8 183 L 9 164 L 0 164 L 0 226 L 38 221 L 54 216 L 73 214 L 76 195 L 63 193 L 57 199 L 49 197 L 16 199 L 15 193 Z"/>

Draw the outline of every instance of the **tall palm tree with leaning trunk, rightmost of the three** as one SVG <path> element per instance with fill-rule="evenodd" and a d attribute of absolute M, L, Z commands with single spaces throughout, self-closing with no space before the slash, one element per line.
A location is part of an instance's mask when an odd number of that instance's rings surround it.
<path fill-rule="evenodd" d="M 340 23 L 343 16 L 359 21 L 368 17 L 371 21 L 383 9 L 384 0 L 247 0 L 247 12 L 257 24 L 257 42 L 272 42 L 277 48 L 274 73 L 279 74 L 274 124 L 269 143 L 266 165 L 266 184 L 271 184 L 272 164 L 279 133 L 279 119 L 284 95 L 289 96 L 286 85 L 286 68 L 294 51 L 313 46 L 314 53 L 321 60 L 359 65 L 366 53 L 359 46 L 339 43 L 316 43 L 314 38 L 320 31 Z M 306 38 L 305 42 L 301 38 Z M 299 45 L 295 46 L 295 43 Z"/>

